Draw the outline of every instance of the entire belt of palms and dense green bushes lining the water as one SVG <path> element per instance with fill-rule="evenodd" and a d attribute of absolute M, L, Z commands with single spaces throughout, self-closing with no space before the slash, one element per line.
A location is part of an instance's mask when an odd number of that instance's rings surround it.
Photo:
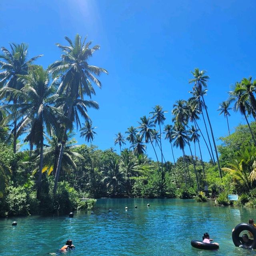
<path fill-rule="evenodd" d="M 74 42 L 65 39 L 68 46 L 57 44 L 61 59 L 46 70 L 34 64 L 41 55 L 28 59 L 26 44 L 1 48 L 0 216 L 91 209 L 95 200 L 81 202 L 82 197 L 205 201 L 209 191 L 212 197 L 218 195 L 218 204 L 230 204 L 227 195 L 238 193 L 238 205 L 256 205 L 256 124 L 248 120 L 256 118 L 256 81 L 250 77 L 236 82 L 228 100 L 220 104 L 229 136 L 220 138 L 218 148 L 205 101 L 209 76 L 196 68 L 189 80 L 191 97 L 174 102 L 169 124 L 165 124 L 166 111 L 156 105 L 150 116 L 142 116 L 138 125 L 127 129 L 126 136 L 116 134 L 114 144 L 120 154 L 113 148 L 102 151 L 92 145 L 96 127 L 88 115 L 89 108 L 99 107 L 92 100 L 93 86 L 101 87 L 97 77 L 107 74 L 89 64 L 100 47 L 91 47 L 79 35 Z M 233 103 L 247 125 L 230 134 L 228 116 Z M 200 118 L 206 134 L 198 125 Z M 78 129 L 90 146 L 76 145 L 73 136 Z M 30 150 L 22 149 L 19 138 Z M 170 152 L 163 152 L 163 139 L 170 143 L 173 162 L 165 160 Z M 122 149 L 126 142 L 130 147 Z M 202 159 L 200 143 L 206 144 L 210 162 Z M 148 158 L 147 144 L 156 162 Z M 177 160 L 173 147 L 182 152 Z"/>

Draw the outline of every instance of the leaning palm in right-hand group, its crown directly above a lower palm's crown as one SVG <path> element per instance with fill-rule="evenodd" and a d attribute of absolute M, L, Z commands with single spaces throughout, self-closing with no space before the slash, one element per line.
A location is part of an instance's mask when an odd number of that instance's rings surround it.
<path fill-rule="evenodd" d="M 184 126 L 184 131 L 186 133 L 186 137 L 188 138 L 188 134 L 186 131 L 186 123 L 188 122 L 188 115 L 189 115 L 188 102 L 186 102 L 186 100 L 177 100 L 175 102 L 175 104 L 173 105 L 172 114 L 175 116 L 175 120 L 180 122 Z M 193 166 L 194 166 L 194 172 L 196 174 L 197 188 L 198 188 L 198 191 L 200 191 L 198 176 L 197 176 L 197 172 L 196 172 L 196 166 L 195 166 L 192 150 L 190 147 L 190 142 L 189 142 L 189 140 L 187 142 L 188 142 L 188 147 L 190 150 L 190 154 L 191 154 L 191 158 L 192 158 L 192 162 L 193 162 Z"/>

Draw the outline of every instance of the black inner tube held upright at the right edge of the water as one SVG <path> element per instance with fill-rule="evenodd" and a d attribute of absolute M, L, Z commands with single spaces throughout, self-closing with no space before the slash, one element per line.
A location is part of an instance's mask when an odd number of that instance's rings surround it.
<path fill-rule="evenodd" d="M 250 245 L 242 244 L 242 242 L 240 241 L 239 235 L 245 230 L 250 231 L 253 235 L 253 241 Z M 247 223 L 238 224 L 232 232 L 232 240 L 235 246 L 256 249 L 256 228 L 254 228 L 251 224 Z"/>

